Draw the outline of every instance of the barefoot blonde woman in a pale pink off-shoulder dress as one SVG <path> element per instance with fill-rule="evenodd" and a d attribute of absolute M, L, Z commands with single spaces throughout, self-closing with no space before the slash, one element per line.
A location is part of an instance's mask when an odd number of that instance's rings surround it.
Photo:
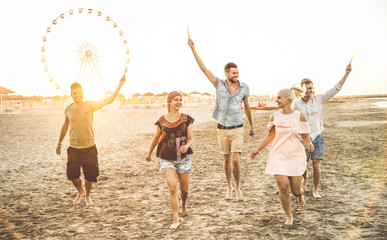
<path fill-rule="evenodd" d="M 307 144 L 308 151 L 313 152 L 313 144 L 309 139 L 310 128 L 305 116 L 292 108 L 294 99 L 303 93 L 302 88 L 292 87 L 282 89 L 277 95 L 278 108 L 281 110 L 270 116 L 268 134 L 255 149 L 250 157 L 253 159 L 270 142 L 269 158 L 265 173 L 274 175 L 278 189 L 279 199 L 285 210 L 285 224 L 293 224 L 293 215 L 289 189 L 298 197 L 300 209 L 306 208 L 304 189 L 302 188 L 302 175 L 306 169 L 306 154 L 302 140 Z M 301 135 L 301 137 L 300 137 Z"/>

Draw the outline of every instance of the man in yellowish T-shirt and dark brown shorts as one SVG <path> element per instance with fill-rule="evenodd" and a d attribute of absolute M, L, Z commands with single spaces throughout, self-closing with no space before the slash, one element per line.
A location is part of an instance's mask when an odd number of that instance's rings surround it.
<path fill-rule="evenodd" d="M 94 143 L 93 113 L 112 103 L 125 81 L 124 74 L 116 90 L 108 98 L 101 101 L 83 101 L 82 86 L 79 83 L 71 85 L 71 97 L 74 103 L 66 107 L 65 121 L 60 132 L 56 154 L 61 154 L 62 141 L 70 127 L 70 146 L 67 149 L 67 177 L 78 190 L 78 194 L 73 200 L 74 204 L 79 204 L 82 197 L 85 196 L 86 205 L 93 205 L 90 191 L 93 182 L 97 182 L 99 176 L 98 153 Z M 81 167 L 85 175 L 85 190 L 79 178 Z"/>

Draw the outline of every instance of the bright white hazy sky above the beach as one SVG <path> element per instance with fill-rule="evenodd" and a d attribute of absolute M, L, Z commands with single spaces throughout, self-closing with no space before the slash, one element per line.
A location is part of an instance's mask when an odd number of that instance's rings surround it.
<path fill-rule="evenodd" d="M 126 96 L 173 90 L 214 94 L 187 45 L 187 24 L 207 68 L 223 78 L 224 65 L 237 63 L 240 81 L 250 86 L 252 94 L 275 94 L 304 77 L 314 81 L 317 92 L 328 90 L 341 79 L 352 54 L 353 71 L 339 95 L 387 93 L 384 0 L 3 0 L 0 86 L 16 94 L 62 95 L 44 72 L 42 39 L 57 16 L 78 8 L 101 11 L 124 32 L 130 51 L 127 82 L 121 90 Z M 104 77 L 103 81 L 115 86 L 125 64 L 117 59 L 125 53 L 111 54 L 116 60 L 101 63 L 100 68 L 114 69 L 111 79 Z M 70 66 L 55 55 L 47 64 Z M 63 71 L 76 72 L 78 67 Z"/>

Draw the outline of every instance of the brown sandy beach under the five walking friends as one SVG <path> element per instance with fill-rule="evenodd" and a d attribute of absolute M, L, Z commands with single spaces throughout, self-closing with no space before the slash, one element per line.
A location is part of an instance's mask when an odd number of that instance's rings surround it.
<path fill-rule="evenodd" d="M 285 214 L 273 176 L 264 173 L 269 147 L 249 155 L 266 134 L 273 111 L 253 113 L 255 136 L 241 155 L 243 202 L 224 199 L 222 156 L 210 107 L 187 107 L 195 118 L 189 215 L 170 230 L 168 189 L 159 161 L 145 156 L 165 109 L 117 109 L 94 114 L 100 177 L 94 206 L 74 206 L 66 154 L 55 155 L 63 109 L 31 109 L 0 116 L 1 239 L 386 239 L 387 108 L 384 99 L 325 104 L 326 143 L 320 193 L 312 197 L 311 163 L 294 225 Z M 275 111 L 275 110 L 274 110 Z M 68 147 L 68 136 L 62 152 Z M 82 176 L 83 180 L 83 176 Z"/>

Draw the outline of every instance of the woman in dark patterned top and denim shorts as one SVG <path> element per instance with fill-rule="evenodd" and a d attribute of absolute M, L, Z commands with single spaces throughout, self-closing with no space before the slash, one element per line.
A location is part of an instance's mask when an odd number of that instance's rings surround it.
<path fill-rule="evenodd" d="M 187 199 L 189 189 L 189 175 L 191 172 L 191 145 L 194 141 L 192 124 L 194 119 L 180 113 L 183 97 L 177 91 L 168 94 L 168 113 L 161 116 L 155 123 L 156 135 L 153 138 L 146 161 L 151 161 L 151 155 L 157 146 L 156 156 L 160 158 L 160 170 L 163 171 L 169 189 L 169 203 L 171 205 L 173 224 L 170 229 L 179 226 L 179 199 L 177 192 L 177 177 L 180 182 L 181 215 L 188 214 Z"/>

